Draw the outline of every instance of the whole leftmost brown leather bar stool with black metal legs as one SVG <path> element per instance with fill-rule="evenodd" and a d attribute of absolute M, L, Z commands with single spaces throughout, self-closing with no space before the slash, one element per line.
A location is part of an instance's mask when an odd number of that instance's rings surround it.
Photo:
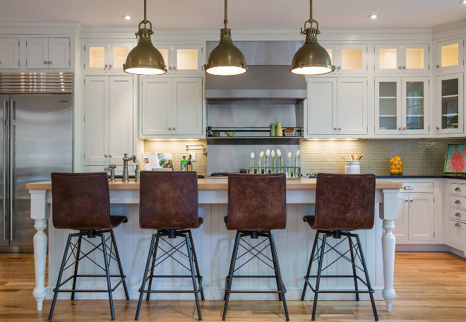
<path fill-rule="evenodd" d="M 61 292 L 71 293 L 71 300 L 74 300 L 77 292 L 104 292 L 109 294 L 110 312 L 112 321 L 115 319 L 112 292 L 123 283 L 126 300 L 129 300 L 128 288 L 126 287 L 126 276 L 123 274 L 120 256 L 117 249 L 117 242 L 113 229 L 123 222 L 128 222 L 125 216 L 110 215 L 110 195 L 109 182 L 106 172 L 92 173 L 52 173 L 52 222 L 56 229 L 74 229 L 79 232 L 68 234 L 63 260 L 59 270 L 58 280 L 54 288 L 54 299 L 50 308 L 48 320 L 52 320 L 56 297 Z M 109 237 L 105 237 L 109 234 Z M 73 243 L 71 238 L 78 237 L 78 241 Z M 94 244 L 90 239 L 100 237 L 100 244 Z M 111 246 L 106 244 L 110 239 Z M 98 239 L 97 239 L 98 240 Z M 81 250 L 81 244 L 86 241 L 92 249 L 88 252 Z M 68 250 L 71 246 L 71 254 Z M 101 249 L 102 246 L 102 249 Z M 76 250 L 76 251 L 75 251 Z M 92 260 L 89 255 L 93 251 L 102 251 L 104 266 Z M 75 254 L 76 253 L 76 254 Z M 84 258 L 88 258 L 96 266 L 104 270 L 104 275 L 78 274 L 78 264 Z M 68 266 L 68 261 L 73 261 Z M 114 259 L 117 261 L 119 274 L 110 274 L 109 264 Z M 61 282 L 64 270 L 74 266 L 74 273 L 70 278 Z M 106 278 L 107 290 L 76 290 L 77 278 Z M 119 278 L 119 282 L 112 287 L 110 278 Z M 61 287 L 68 281 L 73 280 L 71 289 L 63 290 Z"/>

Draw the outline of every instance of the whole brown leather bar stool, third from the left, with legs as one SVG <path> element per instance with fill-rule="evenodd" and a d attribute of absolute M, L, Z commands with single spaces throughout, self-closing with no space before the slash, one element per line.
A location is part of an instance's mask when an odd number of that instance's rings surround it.
<path fill-rule="evenodd" d="M 287 225 L 285 174 L 229 174 L 228 215 L 224 217 L 224 221 L 228 230 L 237 230 L 237 235 L 234 239 L 229 273 L 225 278 L 225 307 L 222 320 L 225 321 L 227 316 L 229 295 L 232 293 L 277 293 L 278 299 L 283 302 L 285 317 L 289 321 L 285 299 L 287 290 L 280 273 L 273 234 L 270 232 L 273 229 L 285 229 Z M 252 246 L 245 240 L 246 237 L 251 239 L 264 237 L 265 239 L 259 244 L 268 241 L 268 245 L 258 249 L 258 245 Z M 246 252 L 240 256 L 238 256 L 239 246 L 246 249 Z M 262 253 L 267 246 L 270 247 L 272 258 Z M 249 261 L 235 269 L 237 259 L 248 253 L 253 256 L 252 258 L 258 258 L 273 268 L 274 275 L 234 275 L 234 272 Z M 270 262 L 273 266 L 270 266 Z M 277 290 L 232 290 L 233 278 L 275 278 Z"/>

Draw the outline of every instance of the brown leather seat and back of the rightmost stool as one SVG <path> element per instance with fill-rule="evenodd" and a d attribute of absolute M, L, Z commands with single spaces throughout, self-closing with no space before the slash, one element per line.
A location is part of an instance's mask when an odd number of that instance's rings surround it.
<path fill-rule="evenodd" d="M 355 230 L 374 227 L 375 174 L 317 174 L 313 229 Z"/>

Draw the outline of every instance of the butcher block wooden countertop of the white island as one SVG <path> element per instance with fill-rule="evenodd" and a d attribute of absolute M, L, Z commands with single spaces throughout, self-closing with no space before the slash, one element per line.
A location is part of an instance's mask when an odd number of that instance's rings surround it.
<path fill-rule="evenodd" d="M 401 182 L 377 180 L 376 189 L 402 189 Z M 109 183 L 110 190 L 139 190 L 139 182 L 130 180 L 128 183 L 117 182 Z M 227 190 L 227 178 L 213 178 L 213 179 L 198 179 L 199 190 Z M 287 190 L 300 190 L 300 189 L 316 189 L 316 179 L 300 179 L 287 180 Z M 34 184 L 26 184 L 26 190 L 52 190 L 52 181 L 37 182 Z"/>

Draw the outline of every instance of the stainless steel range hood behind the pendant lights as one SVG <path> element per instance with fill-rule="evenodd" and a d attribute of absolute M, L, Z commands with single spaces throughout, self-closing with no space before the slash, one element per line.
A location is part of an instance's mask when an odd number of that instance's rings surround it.
<path fill-rule="evenodd" d="M 217 42 L 208 42 L 208 54 Z M 234 42 L 248 64 L 239 76 L 205 75 L 205 98 L 298 99 L 307 97 L 304 76 L 289 72 L 294 53 L 302 42 Z"/>

